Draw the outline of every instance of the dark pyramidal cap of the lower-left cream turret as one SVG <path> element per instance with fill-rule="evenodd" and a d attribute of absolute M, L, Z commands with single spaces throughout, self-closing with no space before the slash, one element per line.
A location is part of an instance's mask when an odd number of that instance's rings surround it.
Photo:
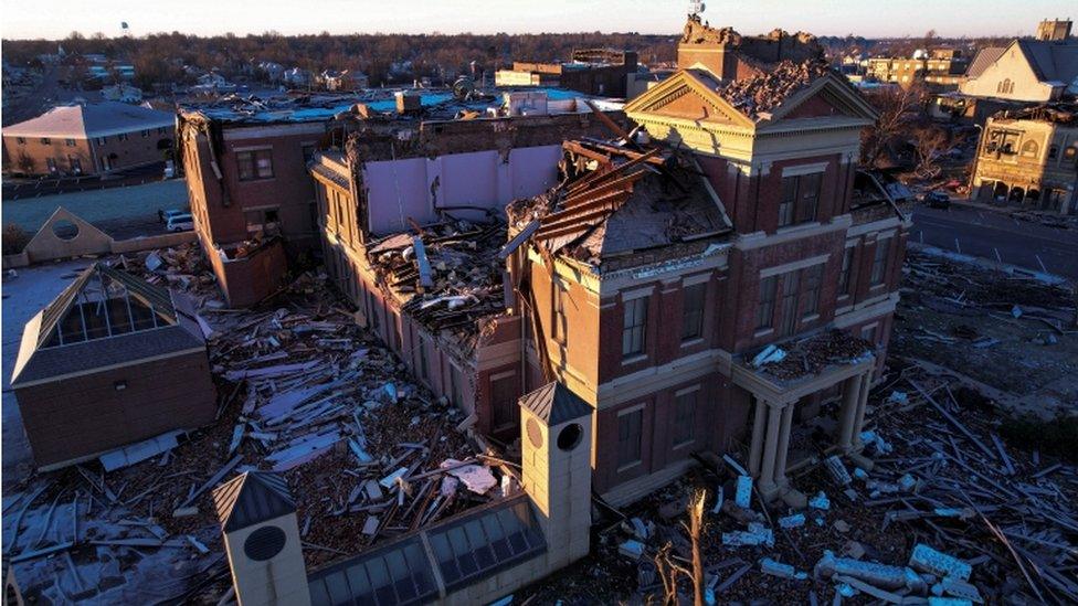
<path fill-rule="evenodd" d="M 213 506 L 224 532 L 296 511 L 288 482 L 270 471 L 245 471 L 214 488 Z"/>

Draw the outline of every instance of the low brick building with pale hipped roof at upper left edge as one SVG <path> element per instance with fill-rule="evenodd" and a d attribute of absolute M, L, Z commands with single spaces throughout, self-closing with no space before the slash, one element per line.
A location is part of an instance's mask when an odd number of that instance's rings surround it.
<path fill-rule="evenodd" d="M 4 167 L 20 174 L 101 174 L 159 162 L 176 117 L 119 102 L 54 107 L 3 129 Z"/>

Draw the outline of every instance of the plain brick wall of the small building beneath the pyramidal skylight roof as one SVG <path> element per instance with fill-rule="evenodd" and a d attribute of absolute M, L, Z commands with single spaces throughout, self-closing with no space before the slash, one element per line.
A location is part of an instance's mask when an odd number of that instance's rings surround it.
<path fill-rule="evenodd" d="M 193 429 L 216 413 L 205 352 L 23 387 L 15 398 L 38 466 Z"/>

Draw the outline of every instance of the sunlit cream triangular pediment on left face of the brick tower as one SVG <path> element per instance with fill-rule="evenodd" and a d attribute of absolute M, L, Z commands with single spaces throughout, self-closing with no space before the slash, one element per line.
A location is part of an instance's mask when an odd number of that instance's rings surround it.
<path fill-rule="evenodd" d="M 678 70 L 628 102 L 625 113 L 751 127 L 752 120 L 719 96 L 717 86 L 718 78 L 705 70 Z"/>

